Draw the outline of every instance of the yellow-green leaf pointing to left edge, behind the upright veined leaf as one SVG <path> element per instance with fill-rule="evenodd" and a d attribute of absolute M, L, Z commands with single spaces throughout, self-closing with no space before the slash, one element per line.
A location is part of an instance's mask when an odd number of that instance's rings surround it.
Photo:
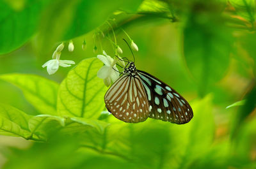
<path fill-rule="evenodd" d="M 0 79 L 19 87 L 29 103 L 41 114 L 56 115 L 59 87 L 56 82 L 36 75 L 19 73 L 0 75 Z"/>

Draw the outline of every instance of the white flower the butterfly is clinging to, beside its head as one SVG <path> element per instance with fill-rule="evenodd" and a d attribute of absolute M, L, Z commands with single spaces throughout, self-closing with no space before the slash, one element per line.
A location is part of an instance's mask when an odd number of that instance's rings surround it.
<path fill-rule="evenodd" d="M 104 55 L 97 55 L 98 59 L 100 59 L 100 61 L 105 64 L 104 66 L 102 66 L 102 68 L 100 68 L 97 76 L 103 79 L 106 86 L 109 86 L 111 82 L 115 82 L 116 79 L 118 79 L 119 72 L 116 68 L 116 61 L 112 57 L 107 55 L 105 51 L 103 51 L 103 54 Z"/>

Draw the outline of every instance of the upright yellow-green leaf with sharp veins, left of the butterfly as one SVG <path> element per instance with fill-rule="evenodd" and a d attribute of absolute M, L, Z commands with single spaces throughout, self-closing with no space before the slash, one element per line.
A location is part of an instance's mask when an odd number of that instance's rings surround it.
<path fill-rule="evenodd" d="M 102 62 L 97 58 L 84 59 L 61 82 L 58 93 L 58 114 L 69 117 L 99 117 L 104 108 L 106 87 L 97 71 Z"/>

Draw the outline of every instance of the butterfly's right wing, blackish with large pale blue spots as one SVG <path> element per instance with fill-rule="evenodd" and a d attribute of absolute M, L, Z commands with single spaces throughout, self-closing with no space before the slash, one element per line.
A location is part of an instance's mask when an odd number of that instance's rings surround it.
<path fill-rule="evenodd" d="M 192 119 L 192 108 L 178 92 L 145 71 L 137 71 L 147 92 L 150 118 L 176 124 L 184 124 Z"/>

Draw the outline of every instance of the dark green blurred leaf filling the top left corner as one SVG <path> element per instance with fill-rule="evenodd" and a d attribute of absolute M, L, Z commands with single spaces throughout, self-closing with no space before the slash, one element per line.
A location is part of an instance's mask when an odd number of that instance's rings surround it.
<path fill-rule="evenodd" d="M 21 9 L 0 1 L 0 54 L 12 52 L 35 33 L 40 11 L 47 1 L 28 0 Z"/>

